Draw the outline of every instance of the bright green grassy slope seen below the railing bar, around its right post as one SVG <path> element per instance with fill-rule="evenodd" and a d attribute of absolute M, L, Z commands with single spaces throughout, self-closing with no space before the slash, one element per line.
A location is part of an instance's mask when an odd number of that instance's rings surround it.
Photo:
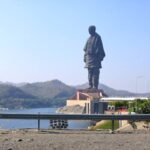
<path fill-rule="evenodd" d="M 119 128 L 119 121 L 115 120 L 114 121 L 114 129 L 118 129 Z M 97 129 L 112 129 L 112 121 L 108 120 L 108 121 L 104 121 L 104 123 L 93 126 L 91 128 L 91 130 L 97 130 Z"/>

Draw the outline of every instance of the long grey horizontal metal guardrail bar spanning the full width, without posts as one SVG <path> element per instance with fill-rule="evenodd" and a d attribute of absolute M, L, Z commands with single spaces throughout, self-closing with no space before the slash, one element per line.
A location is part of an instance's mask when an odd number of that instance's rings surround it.
<path fill-rule="evenodd" d="M 0 114 L 0 119 L 66 119 L 66 120 L 150 120 L 150 114 Z"/>

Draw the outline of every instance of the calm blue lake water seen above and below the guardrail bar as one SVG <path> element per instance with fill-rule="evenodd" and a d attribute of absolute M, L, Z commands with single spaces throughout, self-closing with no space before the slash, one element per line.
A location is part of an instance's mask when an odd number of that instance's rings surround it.
<path fill-rule="evenodd" d="M 15 109 L 0 111 L 0 113 L 12 113 L 12 114 L 55 114 L 57 108 L 36 108 L 36 109 Z M 68 121 L 68 129 L 86 129 L 90 126 L 90 121 Z M 0 128 L 3 129 L 21 129 L 21 128 L 37 128 L 37 120 L 16 120 L 16 119 L 1 119 Z M 41 128 L 49 128 L 49 120 L 41 120 Z"/>

